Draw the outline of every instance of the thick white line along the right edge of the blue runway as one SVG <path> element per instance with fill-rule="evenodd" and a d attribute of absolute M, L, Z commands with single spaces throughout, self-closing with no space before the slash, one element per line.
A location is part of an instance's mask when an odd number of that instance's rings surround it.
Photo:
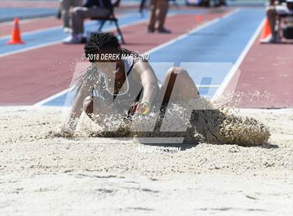
<path fill-rule="evenodd" d="M 257 39 L 257 36 L 260 35 L 260 31 L 262 31 L 262 26 L 264 26 L 264 20 L 262 20 L 262 22 L 260 23 L 260 25 L 257 26 L 257 29 L 255 30 L 255 33 L 250 38 L 250 40 L 248 41 L 246 47 L 241 52 L 239 58 L 234 63 L 233 67 L 230 69 L 230 71 L 228 72 L 228 74 L 226 75 L 226 77 L 223 80 L 222 84 L 217 89 L 215 95 L 213 95 L 213 98 L 211 99 L 212 101 L 217 100 L 218 98 L 220 98 L 220 95 L 223 95 L 225 89 L 227 88 L 228 84 L 230 83 L 230 80 L 232 79 L 232 77 L 234 77 L 235 72 L 238 70 L 239 66 L 241 65 L 241 63 L 245 59 L 246 55 L 248 54 L 248 51 L 250 50 L 250 48 L 255 43 L 255 40 Z"/>

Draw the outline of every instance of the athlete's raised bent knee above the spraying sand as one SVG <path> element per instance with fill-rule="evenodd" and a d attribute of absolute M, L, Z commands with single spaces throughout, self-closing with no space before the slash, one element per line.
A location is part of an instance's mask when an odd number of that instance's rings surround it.
<path fill-rule="evenodd" d="M 190 78 L 188 72 L 183 68 L 170 68 L 163 79 L 160 91 L 163 103 L 168 102 L 171 95 L 174 102 L 185 102 L 200 98 L 200 93 L 197 91 L 193 79 Z"/>

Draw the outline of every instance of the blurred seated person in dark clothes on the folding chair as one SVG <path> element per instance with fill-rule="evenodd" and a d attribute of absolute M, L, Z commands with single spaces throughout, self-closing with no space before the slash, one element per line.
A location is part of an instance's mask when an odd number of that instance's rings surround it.
<path fill-rule="evenodd" d="M 82 7 L 73 8 L 72 27 L 73 32 L 64 43 L 82 43 L 84 33 L 84 19 L 107 18 L 112 15 L 114 7 L 119 6 L 120 0 L 112 3 L 111 0 L 87 0 Z"/>

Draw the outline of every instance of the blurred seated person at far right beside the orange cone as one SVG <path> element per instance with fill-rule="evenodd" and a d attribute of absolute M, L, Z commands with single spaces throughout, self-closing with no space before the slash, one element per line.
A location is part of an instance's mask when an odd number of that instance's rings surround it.
<path fill-rule="evenodd" d="M 270 0 L 270 6 L 266 8 L 266 17 L 271 27 L 271 37 L 262 40 L 262 43 L 278 43 L 278 28 L 276 20 L 279 15 L 293 15 L 293 0 L 274 1 Z"/>

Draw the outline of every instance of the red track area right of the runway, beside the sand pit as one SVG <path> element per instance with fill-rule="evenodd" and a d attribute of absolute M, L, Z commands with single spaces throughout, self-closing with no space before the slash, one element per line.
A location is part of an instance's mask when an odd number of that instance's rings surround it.
<path fill-rule="evenodd" d="M 242 96 L 234 97 L 234 101 L 240 99 L 236 106 L 293 107 L 293 45 L 260 45 L 258 41 L 240 66 L 236 92 Z"/>

